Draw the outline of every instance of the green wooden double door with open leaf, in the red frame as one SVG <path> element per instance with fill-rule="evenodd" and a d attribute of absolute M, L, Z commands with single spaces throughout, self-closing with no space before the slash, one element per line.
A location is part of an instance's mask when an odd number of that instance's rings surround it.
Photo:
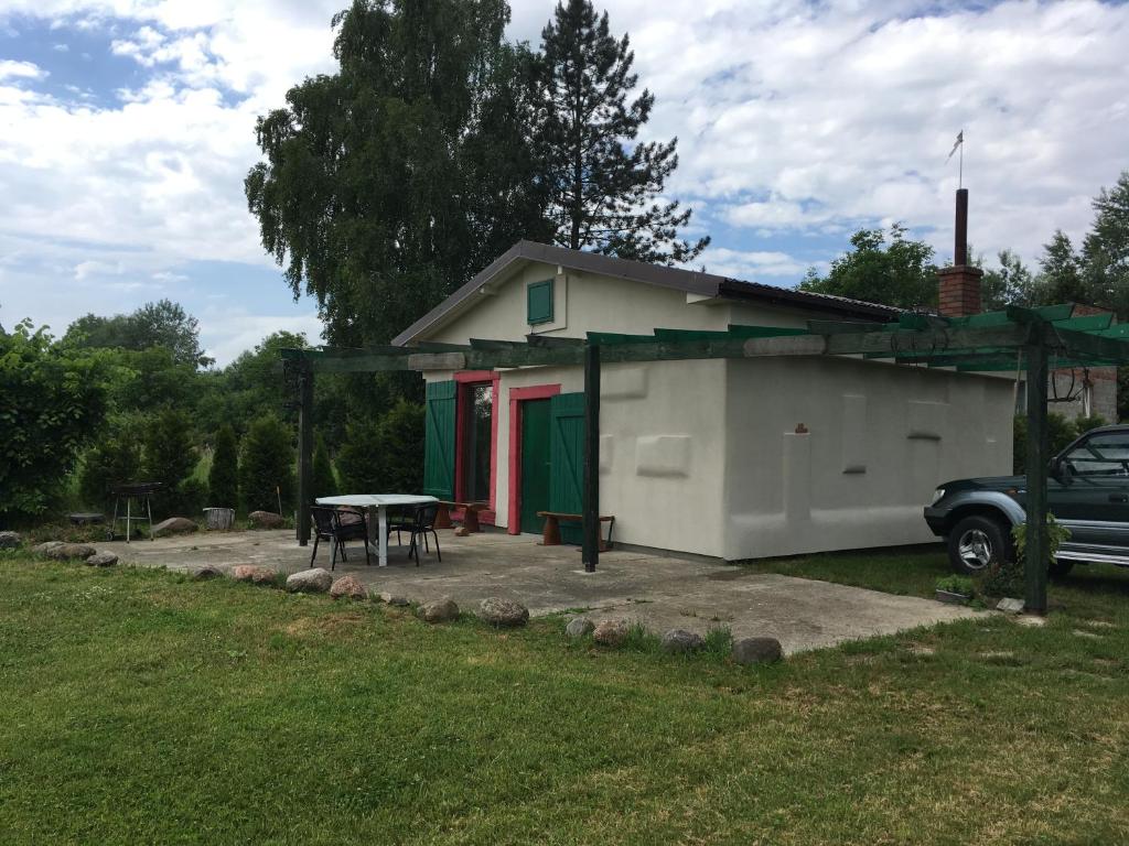
<path fill-rule="evenodd" d="M 578 514 L 584 484 L 584 394 L 559 394 L 522 404 L 520 529 L 540 534 L 539 511 Z M 578 523 L 561 526 L 561 539 L 580 543 Z"/>

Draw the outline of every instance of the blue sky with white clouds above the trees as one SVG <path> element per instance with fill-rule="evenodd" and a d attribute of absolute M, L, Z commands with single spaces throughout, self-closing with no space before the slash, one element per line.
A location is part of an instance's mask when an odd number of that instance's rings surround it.
<path fill-rule="evenodd" d="M 256 115 L 332 72 L 344 0 L 0 0 L 0 324 L 169 298 L 219 364 L 278 329 L 320 340 L 247 212 Z M 551 0 L 511 0 L 539 43 Z M 964 131 L 970 240 L 1035 264 L 1129 168 L 1129 5 L 607 0 L 667 195 L 714 273 L 794 285 L 859 227 L 952 256 Z"/>

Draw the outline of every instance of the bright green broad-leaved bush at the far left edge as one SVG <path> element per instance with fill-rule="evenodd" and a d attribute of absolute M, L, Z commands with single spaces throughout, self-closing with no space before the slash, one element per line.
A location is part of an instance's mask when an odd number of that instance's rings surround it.
<path fill-rule="evenodd" d="M 43 514 L 105 417 L 102 358 L 29 321 L 0 333 L 0 525 Z"/>

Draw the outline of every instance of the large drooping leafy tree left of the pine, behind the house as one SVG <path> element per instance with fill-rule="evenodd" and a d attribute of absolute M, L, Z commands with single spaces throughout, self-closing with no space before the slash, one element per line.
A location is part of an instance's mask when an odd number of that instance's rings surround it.
<path fill-rule="evenodd" d="M 338 71 L 257 121 L 247 204 L 331 343 L 386 343 L 546 230 L 508 20 L 505 0 L 355 0 L 334 18 Z"/>

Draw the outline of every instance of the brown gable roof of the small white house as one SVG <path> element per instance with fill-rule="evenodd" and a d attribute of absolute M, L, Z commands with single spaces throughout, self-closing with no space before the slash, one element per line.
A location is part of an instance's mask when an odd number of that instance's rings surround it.
<path fill-rule="evenodd" d="M 721 297 L 723 299 L 746 302 L 790 306 L 823 311 L 838 317 L 877 323 L 896 320 L 898 315 L 901 314 L 901 309 L 879 306 L 874 302 L 851 300 L 846 297 L 797 291 L 790 288 L 767 285 L 762 282 L 744 282 L 738 279 L 718 276 L 712 273 L 666 267 L 659 264 L 647 264 L 646 262 L 632 262 L 627 258 L 614 258 L 597 253 L 585 253 L 578 249 L 523 240 L 507 249 L 475 275 L 474 279 L 396 335 L 392 340 L 392 343 L 395 346 L 404 346 L 421 333 L 437 326 L 449 312 L 456 310 L 458 306 L 471 298 L 475 291 L 506 274 L 517 262 L 542 262 L 544 264 L 559 265 L 570 271 L 625 279 L 648 285 L 697 293 L 702 297 Z"/>

